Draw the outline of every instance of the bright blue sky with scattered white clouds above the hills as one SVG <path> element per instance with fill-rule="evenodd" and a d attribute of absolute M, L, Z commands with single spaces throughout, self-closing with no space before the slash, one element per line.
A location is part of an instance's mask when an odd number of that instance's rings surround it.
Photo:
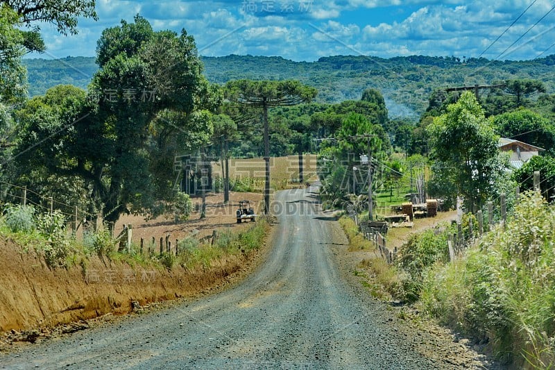
<path fill-rule="evenodd" d="M 313 61 L 340 54 L 462 58 L 483 53 L 488 59 L 529 60 L 555 53 L 553 6 L 549 0 L 97 0 L 99 21 L 80 19 L 78 35 L 59 35 L 40 25 L 48 47 L 41 57 L 94 56 L 104 28 L 121 19 L 132 22 L 138 13 L 156 30 L 185 28 L 203 56 Z"/>

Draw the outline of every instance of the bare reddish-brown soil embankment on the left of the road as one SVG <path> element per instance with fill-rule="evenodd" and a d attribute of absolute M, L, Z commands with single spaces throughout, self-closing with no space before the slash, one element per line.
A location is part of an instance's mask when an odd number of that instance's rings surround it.
<path fill-rule="evenodd" d="M 14 244 L 0 246 L 0 333 L 56 326 L 108 312 L 124 314 L 139 305 L 194 296 L 229 280 L 257 253 L 230 255 L 210 269 L 188 271 L 130 267 L 92 257 L 86 267 L 49 269 L 44 259 Z M 236 274 L 237 275 L 237 274 Z"/>

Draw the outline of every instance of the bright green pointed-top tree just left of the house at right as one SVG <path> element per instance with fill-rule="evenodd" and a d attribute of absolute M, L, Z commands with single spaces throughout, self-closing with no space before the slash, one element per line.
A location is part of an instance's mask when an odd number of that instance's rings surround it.
<path fill-rule="evenodd" d="M 484 117 L 472 92 L 464 92 L 447 113 L 427 128 L 434 159 L 439 162 L 438 178 L 450 181 L 467 209 L 481 206 L 495 192 L 495 180 L 503 166 L 497 150 L 499 137 Z M 441 194 L 439 194 L 441 195 Z"/>

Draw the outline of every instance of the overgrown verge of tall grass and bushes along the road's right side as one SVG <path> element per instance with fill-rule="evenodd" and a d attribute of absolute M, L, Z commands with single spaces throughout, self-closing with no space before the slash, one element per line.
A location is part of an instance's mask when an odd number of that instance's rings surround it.
<path fill-rule="evenodd" d="M 359 249 L 356 230 L 342 225 L 355 242 L 352 250 Z M 468 233 L 464 226 L 465 219 Z M 411 235 L 393 266 L 364 260 L 368 284 L 381 285 L 506 365 L 555 367 L 555 207 L 540 194 L 524 194 L 504 228 L 486 233 L 450 262 L 447 235 L 453 232 L 443 226 Z"/>

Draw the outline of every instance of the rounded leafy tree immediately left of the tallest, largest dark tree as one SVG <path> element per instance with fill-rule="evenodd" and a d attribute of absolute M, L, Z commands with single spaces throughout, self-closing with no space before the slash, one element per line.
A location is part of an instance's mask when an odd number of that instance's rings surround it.
<path fill-rule="evenodd" d="M 50 194 L 65 203 L 60 206 L 70 215 L 75 206 L 86 209 L 89 198 L 85 181 L 72 171 L 70 153 L 76 149 L 74 123 L 83 117 L 85 99 L 85 90 L 58 85 L 24 103 L 15 112 L 21 133 L 15 155 L 5 162 L 12 182 L 33 189 L 28 194 L 31 201 L 41 201 L 36 193 Z"/>

